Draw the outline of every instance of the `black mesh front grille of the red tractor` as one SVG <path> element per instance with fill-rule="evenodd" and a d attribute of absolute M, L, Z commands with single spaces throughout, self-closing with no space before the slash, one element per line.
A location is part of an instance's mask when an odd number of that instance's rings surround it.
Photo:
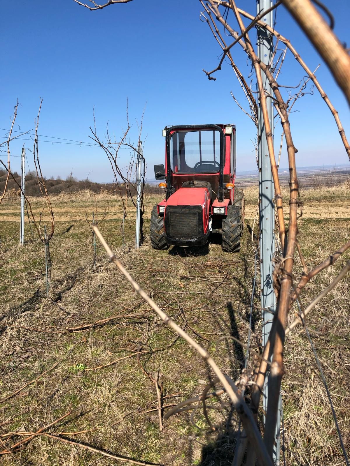
<path fill-rule="evenodd" d="M 203 208 L 167 206 L 164 226 L 169 240 L 196 240 L 203 236 Z"/>

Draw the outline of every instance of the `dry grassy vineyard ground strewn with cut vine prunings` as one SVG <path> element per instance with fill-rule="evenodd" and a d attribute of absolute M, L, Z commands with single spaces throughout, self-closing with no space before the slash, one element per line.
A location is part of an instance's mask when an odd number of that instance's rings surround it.
<path fill-rule="evenodd" d="M 225 396 L 221 404 L 213 403 L 213 409 L 209 410 L 211 420 L 221 425 L 218 432 L 208 432 L 202 412 L 195 410 L 192 418 L 190 412 L 182 412 L 165 421 L 160 432 L 157 394 L 151 379 L 159 372 L 166 413 L 173 404 L 199 394 L 213 374 L 140 300 L 99 245 L 97 267 L 92 272 L 93 244 L 85 211 L 91 218 L 92 210 L 96 212 L 97 208 L 98 219 L 108 212 L 100 224 L 101 233 L 133 278 L 236 379 L 245 355 L 231 336 L 245 342 L 248 335 L 254 275 L 249 228 L 256 212 L 257 189 L 248 188 L 245 198 L 243 246 L 239 254 L 231 255 L 222 251 L 219 239 L 215 238 L 208 247 L 154 251 L 146 237 L 136 252 L 132 209 L 125 222 L 126 244 L 122 250 L 118 198 L 94 197 L 88 192 L 53 197 L 56 228 L 50 250 L 55 300 L 46 297 L 42 243 L 32 240 L 27 223 L 26 244 L 18 245 L 18 202 L 3 202 L 0 439 L 6 445 L 18 441 L 17 436 L 7 436 L 8 432 L 36 432 L 73 411 L 47 432 L 65 432 L 62 437 L 66 439 L 152 463 L 231 465 L 237 419 L 225 405 Z M 146 199 L 146 233 L 150 211 L 157 199 L 161 196 Z M 299 240 L 307 265 L 312 268 L 349 240 L 350 190 L 346 185 L 309 190 L 302 192 L 302 199 L 305 205 Z M 37 201 L 33 206 L 36 212 L 41 211 Z M 347 259 L 349 254 L 308 285 L 301 299 L 303 305 L 332 281 Z M 349 278 L 341 282 L 308 317 L 348 451 L 349 285 Z M 259 289 L 254 299 L 259 306 Z M 291 320 L 296 312 L 293 309 Z M 94 328 L 70 331 L 112 316 L 117 317 Z M 329 402 L 309 342 L 298 330 L 287 337 L 289 372 L 282 386 L 286 464 L 342 464 Z M 257 346 L 261 334 L 257 309 L 253 313 L 253 332 L 253 346 Z M 139 357 L 125 357 L 133 352 L 142 353 Z M 110 365 L 100 367 L 105 364 Z M 45 370 L 49 371 L 35 383 L 5 400 Z M 23 445 L 21 454 L 14 453 L 14 457 L 6 454 L 0 459 L 4 465 L 18 461 L 23 465 L 118 463 L 96 452 L 42 436 Z"/>

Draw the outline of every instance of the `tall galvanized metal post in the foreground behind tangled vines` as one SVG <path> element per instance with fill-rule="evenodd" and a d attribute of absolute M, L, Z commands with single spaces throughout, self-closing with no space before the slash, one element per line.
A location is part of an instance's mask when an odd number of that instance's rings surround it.
<path fill-rule="evenodd" d="M 257 5 L 258 14 L 272 7 L 272 0 L 259 0 Z M 268 26 L 273 26 L 273 12 L 266 14 L 262 18 Z M 273 37 L 266 29 L 258 27 L 258 56 L 261 62 L 268 65 L 271 62 L 273 54 Z M 262 74 L 263 87 L 267 91 L 267 95 L 272 95 L 272 89 L 268 79 Z M 266 97 L 267 111 L 270 119 L 271 130 L 273 131 L 273 102 L 272 99 Z M 271 173 L 270 158 L 268 155 L 268 147 L 266 141 L 266 128 L 262 115 L 261 107 L 259 106 L 259 215 L 260 215 L 260 275 L 261 275 L 261 307 L 262 310 L 262 343 L 266 345 L 270 334 L 273 312 L 276 308 L 275 294 L 272 284 L 272 258 L 275 252 L 275 212 L 273 193 L 274 185 Z M 267 382 L 268 374 L 266 375 Z M 265 382 L 263 391 L 263 407 L 267 409 L 267 383 Z M 276 446 L 273 450 L 273 461 L 276 465 L 280 464 L 280 409 L 277 417 L 276 426 Z"/>

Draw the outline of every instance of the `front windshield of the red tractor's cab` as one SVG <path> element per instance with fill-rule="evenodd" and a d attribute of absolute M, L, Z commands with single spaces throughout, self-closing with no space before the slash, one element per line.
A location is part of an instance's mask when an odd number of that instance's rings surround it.
<path fill-rule="evenodd" d="M 173 173 L 220 171 L 219 131 L 175 131 L 170 136 L 170 166 Z"/>

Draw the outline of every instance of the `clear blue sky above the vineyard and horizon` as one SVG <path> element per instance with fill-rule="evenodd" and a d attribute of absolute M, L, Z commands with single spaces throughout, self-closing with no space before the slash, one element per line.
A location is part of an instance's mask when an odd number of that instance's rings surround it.
<path fill-rule="evenodd" d="M 237 3 L 254 14 L 254 0 Z M 324 3 L 335 15 L 336 34 L 341 41 L 349 41 L 348 0 L 338 0 L 336 7 L 330 0 Z M 161 130 L 168 124 L 236 124 L 238 172 L 255 170 L 251 142 L 255 127 L 230 96 L 232 91 L 246 108 L 231 67 L 224 64 L 216 81 L 209 81 L 202 71 L 216 67 L 221 51 L 209 27 L 199 19 L 202 9 L 197 0 L 134 0 L 95 12 L 78 6 L 73 0 L 5 2 L 1 25 L 0 128 L 3 130 L 0 135 L 4 136 L 10 127 L 16 98 L 20 102 L 16 120 L 20 128 L 15 129 L 33 128 L 42 97 L 39 134 L 50 136 L 42 140 L 62 137 L 89 141 L 94 106 L 98 133 L 103 136 L 109 122 L 110 130 L 118 139 L 126 126 L 128 96 L 129 119 L 133 123 L 131 139 L 137 138 L 135 120 L 140 120 L 146 105 L 143 138 L 148 178 L 154 178 L 153 165 L 163 163 Z M 228 22 L 237 29 L 231 14 Z M 292 41 L 311 69 L 322 63 L 284 7 L 278 8 L 276 30 Z M 255 39 L 255 30 L 250 36 Z M 247 58 L 238 44 L 233 56 L 247 75 Z M 288 52 L 280 84 L 296 86 L 304 74 Z M 349 108 L 342 93 L 323 63 L 316 75 L 350 138 Z M 298 111 L 291 115 L 290 121 L 298 148 L 297 166 L 347 164 L 334 119 L 318 92 L 304 96 L 294 109 Z M 280 134 L 278 123 L 277 151 Z M 27 148 L 32 147 L 30 141 L 13 142 L 13 155 L 21 153 L 23 143 Z M 77 178 L 86 178 L 92 171 L 90 179 L 112 181 L 109 162 L 97 147 L 39 144 L 46 176 L 65 178 L 72 171 Z M 127 163 L 128 154 L 123 151 L 121 166 Z M 2 153 L 1 158 L 5 160 L 6 154 Z M 29 151 L 27 158 L 29 169 L 33 168 Z M 19 158 L 13 157 L 12 163 L 13 169 L 18 170 Z M 280 166 L 287 166 L 285 150 Z"/>

